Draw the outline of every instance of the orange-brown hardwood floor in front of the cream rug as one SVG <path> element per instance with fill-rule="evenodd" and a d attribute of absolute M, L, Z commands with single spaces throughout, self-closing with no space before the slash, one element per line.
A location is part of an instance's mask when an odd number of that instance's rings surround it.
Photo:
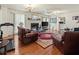
<path fill-rule="evenodd" d="M 61 55 L 62 53 L 53 45 L 42 48 L 36 43 L 32 43 L 29 45 L 20 45 L 19 47 L 20 55 Z"/>

